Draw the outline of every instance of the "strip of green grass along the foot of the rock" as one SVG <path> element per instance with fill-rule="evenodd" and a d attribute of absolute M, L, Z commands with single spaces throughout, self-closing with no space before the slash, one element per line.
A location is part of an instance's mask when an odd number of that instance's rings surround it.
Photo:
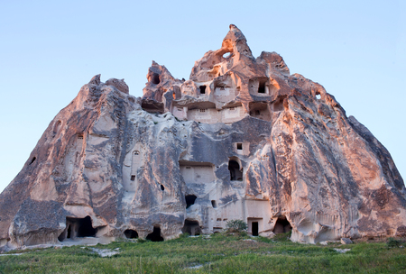
<path fill-rule="evenodd" d="M 95 247 L 23 251 L 1 256 L 0 273 L 404 273 L 401 240 L 327 246 L 246 233 L 181 236 L 165 242 L 119 241 Z M 398 241 L 398 242 L 393 242 Z M 351 249 L 346 253 L 335 249 Z M 120 251 L 102 258 L 94 249 Z M 21 251 L 20 251 L 21 252 Z"/>

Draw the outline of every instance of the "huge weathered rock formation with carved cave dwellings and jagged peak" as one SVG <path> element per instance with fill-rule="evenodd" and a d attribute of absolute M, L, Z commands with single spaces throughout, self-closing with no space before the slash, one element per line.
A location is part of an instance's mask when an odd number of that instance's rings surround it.
<path fill-rule="evenodd" d="M 143 97 L 92 78 L 0 195 L 0 242 L 18 247 L 180 233 L 292 230 L 298 242 L 406 231 L 391 155 L 325 89 L 235 25 L 189 80 L 152 62 Z"/>

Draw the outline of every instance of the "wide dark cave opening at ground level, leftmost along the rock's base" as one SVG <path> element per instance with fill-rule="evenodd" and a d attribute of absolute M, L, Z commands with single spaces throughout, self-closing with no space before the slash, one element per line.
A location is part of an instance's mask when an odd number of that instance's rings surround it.
<path fill-rule="evenodd" d="M 74 239 L 82 237 L 96 237 L 97 228 L 93 228 L 90 216 L 85 218 L 66 217 L 66 229 L 60 233 L 58 240 Z"/>

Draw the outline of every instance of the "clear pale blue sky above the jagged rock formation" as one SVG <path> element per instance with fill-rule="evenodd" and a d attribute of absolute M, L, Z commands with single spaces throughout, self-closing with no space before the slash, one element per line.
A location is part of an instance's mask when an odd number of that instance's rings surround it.
<path fill-rule="evenodd" d="M 405 1 L 64 2 L 0 1 L 0 191 L 90 78 L 142 96 L 152 59 L 189 78 L 230 23 L 336 96 L 406 177 Z"/>

